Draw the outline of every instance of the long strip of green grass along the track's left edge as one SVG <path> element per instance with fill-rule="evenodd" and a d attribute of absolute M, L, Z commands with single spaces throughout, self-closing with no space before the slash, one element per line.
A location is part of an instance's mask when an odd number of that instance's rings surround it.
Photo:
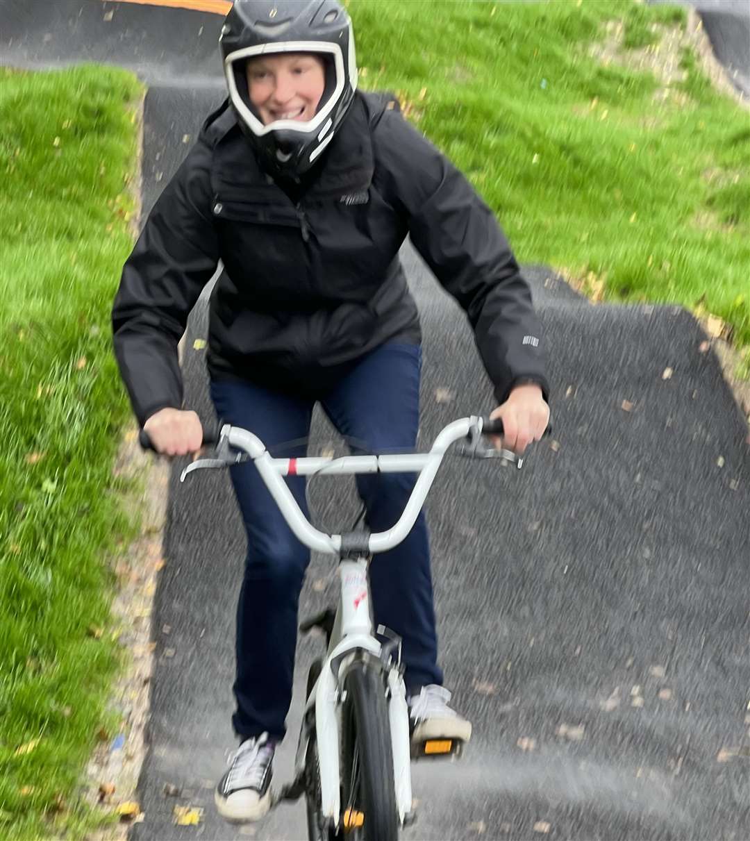
<path fill-rule="evenodd" d="M 2 838 L 91 822 L 78 785 L 119 664 L 103 558 L 132 533 L 109 311 L 132 247 L 140 94 L 102 67 L 0 69 Z"/>

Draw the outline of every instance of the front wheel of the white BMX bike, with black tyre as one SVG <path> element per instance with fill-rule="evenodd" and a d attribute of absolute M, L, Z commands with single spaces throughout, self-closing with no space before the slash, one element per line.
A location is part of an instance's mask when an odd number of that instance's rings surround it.
<path fill-rule="evenodd" d="M 396 841 L 388 706 L 383 671 L 358 661 L 344 681 L 341 715 L 341 836 L 346 841 Z"/>

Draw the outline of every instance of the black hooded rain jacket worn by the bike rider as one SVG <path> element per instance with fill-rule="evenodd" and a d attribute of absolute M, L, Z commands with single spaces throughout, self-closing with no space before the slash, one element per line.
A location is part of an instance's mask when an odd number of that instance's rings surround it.
<path fill-rule="evenodd" d="M 407 234 L 466 311 L 499 403 L 525 380 L 547 399 L 531 293 L 494 214 L 393 101 L 357 93 L 320 172 L 290 195 L 224 103 L 161 193 L 114 301 L 114 350 L 141 425 L 182 408 L 177 344 L 219 260 L 212 378 L 314 395 L 385 341 L 419 342 L 399 262 Z"/>

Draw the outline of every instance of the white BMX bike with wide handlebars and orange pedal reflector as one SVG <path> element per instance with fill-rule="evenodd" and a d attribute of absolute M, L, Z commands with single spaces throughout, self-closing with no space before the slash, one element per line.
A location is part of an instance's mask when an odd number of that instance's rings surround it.
<path fill-rule="evenodd" d="M 459 454 L 469 458 L 504 458 L 520 468 L 522 459 L 514 452 L 484 445 L 482 436 L 489 434 L 501 435 L 502 424 L 471 416 L 448 424 L 426 453 L 272 458 L 257 436 L 224 425 L 214 458 L 199 459 L 182 472 L 181 481 L 200 468 L 251 460 L 296 537 L 316 552 L 339 558 L 338 609 L 300 625 L 302 631 L 320 627 L 328 649 L 325 659 L 315 660 L 309 669 L 294 779 L 272 799 L 276 805 L 304 795 L 312 841 L 342 841 L 345 836 L 352 841 L 395 841 L 399 829 L 415 820 L 411 759 L 461 752 L 462 743 L 452 739 L 426 740 L 412 748 L 400 639 L 383 626 L 376 634 L 367 568 L 373 555 L 393 548 L 409 534 L 453 443 L 462 442 Z M 143 434 L 141 442 L 148 446 Z M 399 521 L 388 532 L 376 534 L 318 531 L 283 480 L 288 475 L 378 472 L 419 473 L 419 477 Z"/>

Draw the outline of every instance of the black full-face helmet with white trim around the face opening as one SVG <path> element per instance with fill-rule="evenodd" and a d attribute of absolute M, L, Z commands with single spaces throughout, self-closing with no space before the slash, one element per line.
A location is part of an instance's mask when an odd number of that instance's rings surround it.
<path fill-rule="evenodd" d="M 346 10 L 336 0 L 235 0 L 219 45 L 230 102 L 262 167 L 286 177 L 309 170 L 333 140 L 357 90 L 354 34 Z M 313 119 L 264 125 L 250 101 L 246 62 L 285 52 L 320 56 L 325 89 Z"/>

